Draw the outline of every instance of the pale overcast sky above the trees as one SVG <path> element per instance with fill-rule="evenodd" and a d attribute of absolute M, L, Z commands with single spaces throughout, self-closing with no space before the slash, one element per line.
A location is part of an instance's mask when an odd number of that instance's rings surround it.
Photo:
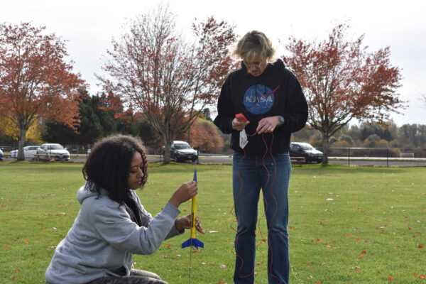
<path fill-rule="evenodd" d="M 398 126 L 426 124 L 426 1 L 418 0 L 170 0 L 178 27 L 190 32 L 195 18 L 214 16 L 236 26 L 244 35 L 256 29 L 268 35 L 278 50 L 289 35 L 307 40 L 323 40 L 337 23 L 349 22 L 349 35 L 365 34 L 368 51 L 391 47 L 391 63 L 402 70 L 400 99 L 408 101 L 403 115 L 392 114 Z M 94 73 L 102 75 L 102 56 L 111 49 L 126 18 L 152 11 L 155 0 L 6 0 L 1 1 L 0 22 L 32 21 L 46 26 L 67 40 L 67 50 L 75 71 L 90 84 L 90 94 L 99 92 Z"/>

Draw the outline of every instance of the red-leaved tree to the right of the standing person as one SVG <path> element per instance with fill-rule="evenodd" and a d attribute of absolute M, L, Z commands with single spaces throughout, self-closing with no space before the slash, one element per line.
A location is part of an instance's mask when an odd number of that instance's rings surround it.
<path fill-rule="evenodd" d="M 297 75 L 309 106 L 308 124 L 322 133 L 323 159 L 328 163 L 329 138 L 352 119 L 388 120 L 405 107 L 396 93 L 401 74 L 391 65 L 389 47 L 368 53 L 364 35 L 345 39 L 346 24 L 335 27 L 320 43 L 290 37 L 283 60 Z"/>

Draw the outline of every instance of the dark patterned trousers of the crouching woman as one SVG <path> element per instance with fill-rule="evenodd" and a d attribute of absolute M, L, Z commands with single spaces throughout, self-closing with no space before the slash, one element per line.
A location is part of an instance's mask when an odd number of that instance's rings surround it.
<path fill-rule="evenodd" d="M 149 271 L 132 269 L 129 276 L 107 276 L 86 284 L 167 284 L 160 276 Z"/>

